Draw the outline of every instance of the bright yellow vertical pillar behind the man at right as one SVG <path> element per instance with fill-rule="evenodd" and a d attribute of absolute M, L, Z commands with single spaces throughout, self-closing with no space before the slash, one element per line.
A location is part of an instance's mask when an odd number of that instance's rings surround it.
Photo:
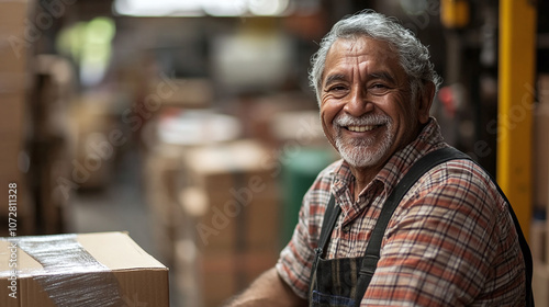
<path fill-rule="evenodd" d="M 500 0 L 497 182 L 527 239 L 533 207 L 536 19 L 533 1 Z"/>

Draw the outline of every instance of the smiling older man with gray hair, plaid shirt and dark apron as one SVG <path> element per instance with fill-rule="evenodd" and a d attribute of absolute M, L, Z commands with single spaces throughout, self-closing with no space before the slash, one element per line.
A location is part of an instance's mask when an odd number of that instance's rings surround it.
<path fill-rule="evenodd" d="M 312 64 L 322 126 L 343 159 L 304 196 L 276 268 L 232 306 L 524 306 L 525 259 L 507 201 L 468 159 L 412 182 L 363 285 L 388 197 L 416 161 L 449 147 L 429 116 L 440 81 L 427 48 L 371 11 L 335 24 Z"/>

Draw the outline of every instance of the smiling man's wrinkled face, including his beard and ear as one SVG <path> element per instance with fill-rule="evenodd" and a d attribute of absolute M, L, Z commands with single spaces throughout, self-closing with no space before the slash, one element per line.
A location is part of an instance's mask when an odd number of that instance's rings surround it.
<path fill-rule="evenodd" d="M 351 167 L 381 169 L 416 137 L 419 118 L 427 122 L 428 110 L 414 106 L 408 83 L 388 43 L 367 36 L 334 43 L 322 78 L 321 120 Z"/>

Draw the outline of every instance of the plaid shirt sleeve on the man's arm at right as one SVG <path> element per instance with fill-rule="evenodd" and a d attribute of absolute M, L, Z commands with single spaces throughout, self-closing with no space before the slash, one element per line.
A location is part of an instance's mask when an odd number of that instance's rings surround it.
<path fill-rule="evenodd" d="M 514 229 L 505 203 L 474 170 L 446 168 L 401 203 L 362 304 L 468 306 L 490 293 L 508 292 L 505 304 L 524 297 L 516 232 L 502 232 Z"/>

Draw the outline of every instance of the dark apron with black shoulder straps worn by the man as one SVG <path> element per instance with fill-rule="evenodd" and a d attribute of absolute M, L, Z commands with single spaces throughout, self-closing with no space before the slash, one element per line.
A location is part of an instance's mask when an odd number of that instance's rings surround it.
<path fill-rule="evenodd" d="M 391 219 L 391 216 L 396 209 L 396 206 L 401 202 L 402 197 L 425 172 L 439 163 L 453 159 L 470 160 L 471 158 L 450 147 L 429 152 L 412 166 L 410 171 L 396 184 L 394 191 L 391 195 L 389 195 L 383 204 L 380 217 L 378 218 L 376 227 L 372 230 L 372 235 L 363 257 L 330 260 L 323 259 L 337 217 L 341 212 L 341 208 L 335 204 L 334 196 L 330 195 L 321 228 L 318 248 L 315 250 L 316 255 L 311 271 L 309 306 L 360 306 L 360 302 L 366 294 L 380 259 L 381 242 L 383 240 L 386 226 L 389 225 L 389 220 Z M 507 204 L 509 204 L 495 180 L 492 179 L 492 181 Z M 526 306 L 534 306 L 531 293 L 531 253 L 511 204 L 507 207 L 515 224 L 520 243 L 520 250 L 526 264 Z"/>

